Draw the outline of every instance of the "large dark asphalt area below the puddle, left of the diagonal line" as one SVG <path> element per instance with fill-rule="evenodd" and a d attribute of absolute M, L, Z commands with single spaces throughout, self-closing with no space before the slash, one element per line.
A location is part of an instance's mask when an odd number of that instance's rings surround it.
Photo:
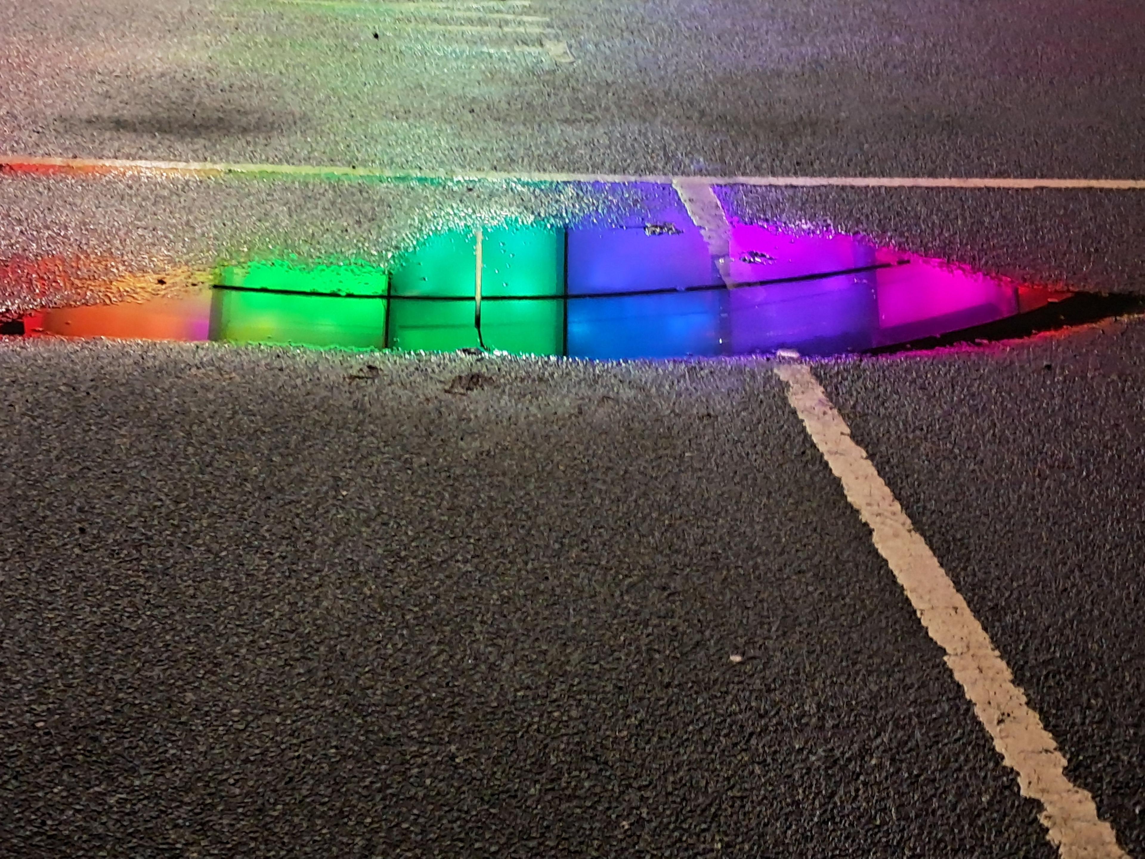
<path fill-rule="evenodd" d="M 1053 854 L 766 362 L 0 368 L 8 854 Z"/>

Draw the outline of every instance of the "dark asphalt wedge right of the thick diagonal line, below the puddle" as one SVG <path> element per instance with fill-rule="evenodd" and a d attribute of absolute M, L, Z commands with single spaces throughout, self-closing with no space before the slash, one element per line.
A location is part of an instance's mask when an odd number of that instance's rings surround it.
<path fill-rule="evenodd" d="M 1145 328 L 816 369 L 1132 856 L 1145 856 Z"/>

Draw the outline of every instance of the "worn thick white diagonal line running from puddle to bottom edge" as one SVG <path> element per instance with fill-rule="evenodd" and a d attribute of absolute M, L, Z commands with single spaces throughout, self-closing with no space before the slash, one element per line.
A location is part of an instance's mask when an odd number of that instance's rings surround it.
<path fill-rule="evenodd" d="M 1093 797 L 1066 778 L 1066 759 L 1053 738 L 867 452 L 851 438 L 811 368 L 781 364 L 775 373 L 787 383 L 788 400 L 843 483 L 847 501 L 870 527 L 875 547 L 902 585 L 918 620 L 946 651 L 946 663 L 974 704 L 994 748 L 1018 773 L 1022 796 L 1042 804 L 1042 823 L 1063 859 L 1129 859 L 1118 845 L 1113 827 L 1097 817 Z"/>

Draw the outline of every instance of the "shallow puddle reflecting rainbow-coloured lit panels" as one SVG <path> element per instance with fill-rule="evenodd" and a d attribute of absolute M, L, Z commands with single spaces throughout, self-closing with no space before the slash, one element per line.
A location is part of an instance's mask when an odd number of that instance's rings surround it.
<path fill-rule="evenodd" d="M 773 226 L 733 222 L 718 263 L 679 212 L 653 214 L 625 227 L 458 229 L 389 270 L 226 265 L 211 287 L 181 298 L 42 310 L 23 330 L 585 358 L 828 355 L 979 326 L 1065 295 L 856 236 Z"/>

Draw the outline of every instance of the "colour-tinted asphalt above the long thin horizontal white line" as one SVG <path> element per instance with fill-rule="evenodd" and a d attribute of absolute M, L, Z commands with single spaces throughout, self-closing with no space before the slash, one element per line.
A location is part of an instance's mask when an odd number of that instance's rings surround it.
<path fill-rule="evenodd" d="M 1123 0 L 512 7 L 8 3 L 0 149 L 414 170 L 1145 172 L 1145 10 Z M 545 40 L 575 62 L 529 50 Z"/>

